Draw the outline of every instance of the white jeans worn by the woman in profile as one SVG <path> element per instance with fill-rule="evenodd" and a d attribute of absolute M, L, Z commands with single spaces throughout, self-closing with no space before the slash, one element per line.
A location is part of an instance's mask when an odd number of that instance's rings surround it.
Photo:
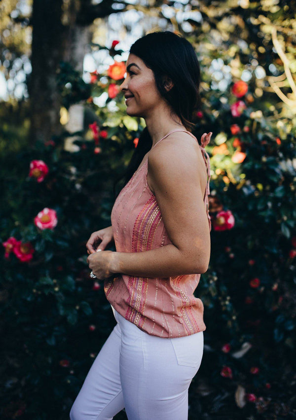
<path fill-rule="evenodd" d="M 199 369 L 203 332 L 160 338 L 113 308 L 117 324 L 97 355 L 70 413 L 71 420 L 188 419 L 188 388 Z"/>

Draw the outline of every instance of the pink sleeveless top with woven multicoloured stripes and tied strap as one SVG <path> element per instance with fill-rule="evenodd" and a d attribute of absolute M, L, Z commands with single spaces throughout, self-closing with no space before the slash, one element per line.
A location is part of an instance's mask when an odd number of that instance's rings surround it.
<path fill-rule="evenodd" d="M 161 140 L 177 131 L 185 130 L 173 130 Z M 190 132 L 185 132 L 196 140 Z M 211 134 L 203 134 L 200 147 L 208 174 L 204 203 L 211 229 L 208 211 L 210 161 L 204 149 L 210 138 Z M 148 158 L 114 203 L 111 223 L 119 252 L 142 252 L 171 244 L 155 196 L 148 187 L 147 172 Z M 138 328 L 157 337 L 175 338 L 206 329 L 202 301 L 193 295 L 199 279 L 200 274 L 169 278 L 122 274 L 105 280 L 104 290 L 112 307 Z"/>

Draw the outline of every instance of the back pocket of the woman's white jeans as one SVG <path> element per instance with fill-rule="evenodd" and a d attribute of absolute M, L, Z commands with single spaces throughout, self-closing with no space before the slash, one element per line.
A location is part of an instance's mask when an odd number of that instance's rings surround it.
<path fill-rule="evenodd" d="M 203 332 L 171 338 L 178 365 L 199 368 L 203 354 Z"/>

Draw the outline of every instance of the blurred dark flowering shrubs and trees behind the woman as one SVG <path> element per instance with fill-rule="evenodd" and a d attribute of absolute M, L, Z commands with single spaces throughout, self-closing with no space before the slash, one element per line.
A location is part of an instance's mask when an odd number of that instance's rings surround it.
<path fill-rule="evenodd" d="M 110 224 L 144 128 L 113 65 L 151 30 L 193 44 L 193 132 L 213 132 L 212 256 L 195 292 L 207 330 L 189 419 L 296 418 L 295 12 L 280 0 L 0 2 L 1 418 L 68 419 L 114 326 L 85 243 Z"/>

